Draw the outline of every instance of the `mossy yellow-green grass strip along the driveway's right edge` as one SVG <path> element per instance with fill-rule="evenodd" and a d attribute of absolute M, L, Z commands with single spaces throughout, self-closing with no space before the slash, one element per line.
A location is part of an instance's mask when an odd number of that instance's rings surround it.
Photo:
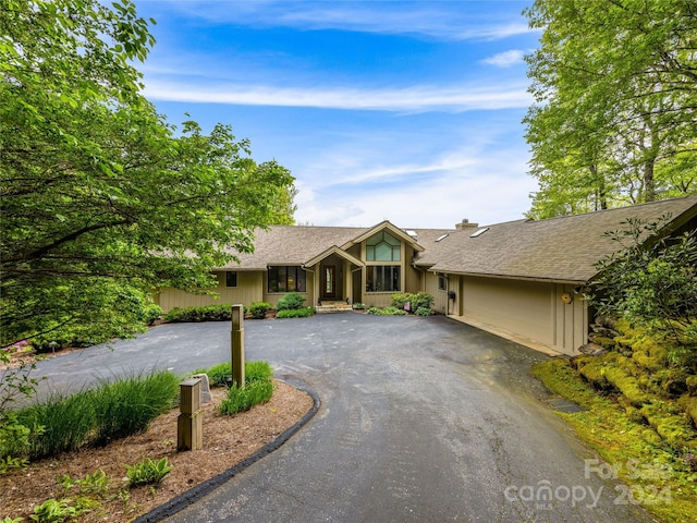
<path fill-rule="evenodd" d="M 558 412 L 634 492 L 634 499 L 664 522 L 697 521 L 697 472 L 643 416 L 600 396 L 566 360 L 536 364 L 533 373 L 553 393 L 585 412 Z"/>

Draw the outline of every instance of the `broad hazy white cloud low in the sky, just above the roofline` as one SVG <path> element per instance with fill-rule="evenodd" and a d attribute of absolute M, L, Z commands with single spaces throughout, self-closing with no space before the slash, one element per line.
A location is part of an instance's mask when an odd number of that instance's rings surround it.
<path fill-rule="evenodd" d="M 296 198 L 299 223 L 369 227 L 389 219 L 400 227 L 452 228 L 467 218 L 491 224 L 522 218 L 529 209 L 526 196 L 536 188 L 535 180 L 526 174 L 527 154 L 518 146 L 503 146 L 492 155 L 490 146 L 479 144 L 420 166 L 398 162 L 372 170 L 369 161 L 360 165 L 350 159 L 344 165 L 344 154 L 337 149 L 321 159 L 325 165 L 339 166 L 331 178 L 321 180 L 311 174 L 311 168 L 303 172 Z M 362 156 L 370 158 L 371 154 Z M 414 171 L 427 175 L 406 177 Z M 381 172 L 401 172 L 402 177 L 383 180 Z M 352 173 L 356 183 L 346 184 Z"/>

